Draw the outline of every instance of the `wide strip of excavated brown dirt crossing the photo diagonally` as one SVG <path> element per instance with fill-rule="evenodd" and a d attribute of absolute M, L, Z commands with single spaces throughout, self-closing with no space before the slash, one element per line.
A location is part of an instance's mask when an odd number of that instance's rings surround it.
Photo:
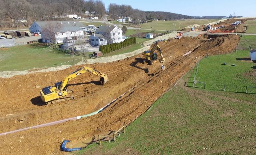
<path fill-rule="evenodd" d="M 209 38 L 212 39 L 207 40 Z M 72 146 L 98 134 L 106 134 L 108 130 L 117 130 L 123 122 L 128 125 L 207 53 L 230 53 L 238 42 L 237 35 L 183 37 L 180 40 L 158 42 L 165 56 L 166 70 L 160 69 L 160 62 L 152 66 L 142 64 L 144 57 L 138 54 L 115 62 L 81 64 L 55 72 L 0 78 L 1 133 L 91 113 L 136 86 L 96 115 L 1 136 L 0 152 L 65 154 L 60 152 L 62 139 L 71 140 L 69 146 Z M 183 56 L 190 50 L 192 53 Z M 68 88 L 74 90 L 74 100 L 50 106 L 40 100 L 40 89 L 54 85 L 82 66 L 92 67 L 107 74 L 108 83 L 101 86 L 99 77 L 83 74 L 69 83 Z"/>

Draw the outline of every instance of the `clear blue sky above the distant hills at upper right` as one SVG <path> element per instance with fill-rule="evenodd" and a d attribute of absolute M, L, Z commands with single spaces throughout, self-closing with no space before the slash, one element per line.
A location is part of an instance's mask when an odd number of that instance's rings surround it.
<path fill-rule="evenodd" d="M 256 0 L 102 0 L 106 9 L 110 3 L 130 5 L 143 11 L 166 11 L 189 16 L 256 16 Z"/>

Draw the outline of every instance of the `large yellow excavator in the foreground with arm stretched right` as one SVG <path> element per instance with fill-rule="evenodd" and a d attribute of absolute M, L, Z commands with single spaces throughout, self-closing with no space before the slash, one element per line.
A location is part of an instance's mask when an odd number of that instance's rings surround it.
<path fill-rule="evenodd" d="M 63 81 L 55 83 L 55 86 L 52 86 L 52 87 L 48 86 L 48 87 L 43 88 L 40 91 L 42 101 L 46 102 L 47 105 L 50 105 L 50 104 L 53 104 L 56 102 L 73 100 L 74 96 L 68 95 L 68 94 L 73 93 L 73 91 L 67 90 L 67 84 L 71 79 L 73 79 L 83 73 L 86 73 L 86 72 L 100 76 L 101 85 L 108 82 L 108 77 L 104 73 L 102 73 L 98 70 L 95 70 L 93 68 L 82 67 L 82 68 L 77 69 L 76 71 L 70 73 L 69 75 L 67 75 Z"/>

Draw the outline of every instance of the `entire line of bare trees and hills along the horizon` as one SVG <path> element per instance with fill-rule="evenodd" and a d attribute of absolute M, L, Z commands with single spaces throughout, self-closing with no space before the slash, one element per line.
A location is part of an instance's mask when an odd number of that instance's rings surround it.
<path fill-rule="evenodd" d="M 105 14 L 108 14 L 108 18 L 112 20 L 131 17 L 135 24 L 154 19 L 207 18 L 207 16 L 188 16 L 162 11 L 142 11 L 133 9 L 130 5 L 116 3 L 110 3 L 106 8 L 102 0 L 0 0 L 0 28 L 29 26 L 33 21 L 68 20 L 63 19 L 65 14 L 82 15 L 85 11 L 89 12 L 89 16 L 99 17 L 99 19 Z M 55 18 L 56 16 L 58 18 Z M 27 22 L 22 22 L 20 19 L 26 19 Z"/>

